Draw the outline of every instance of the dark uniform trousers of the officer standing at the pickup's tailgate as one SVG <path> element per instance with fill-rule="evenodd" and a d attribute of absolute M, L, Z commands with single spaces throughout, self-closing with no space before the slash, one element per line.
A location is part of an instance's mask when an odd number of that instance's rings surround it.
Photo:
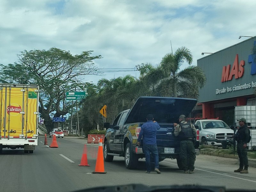
<path fill-rule="evenodd" d="M 195 167 L 195 160 L 196 160 L 196 153 L 193 141 L 184 140 L 180 141 L 180 157 L 181 163 L 183 166 L 183 170 L 191 170 L 194 171 Z"/>

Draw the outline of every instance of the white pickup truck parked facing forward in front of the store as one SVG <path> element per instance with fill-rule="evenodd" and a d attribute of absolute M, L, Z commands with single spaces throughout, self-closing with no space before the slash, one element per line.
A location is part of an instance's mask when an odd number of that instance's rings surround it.
<path fill-rule="evenodd" d="M 202 119 L 196 123 L 199 129 L 199 144 L 222 146 L 221 141 L 227 140 L 234 134 L 234 131 L 221 120 Z"/>

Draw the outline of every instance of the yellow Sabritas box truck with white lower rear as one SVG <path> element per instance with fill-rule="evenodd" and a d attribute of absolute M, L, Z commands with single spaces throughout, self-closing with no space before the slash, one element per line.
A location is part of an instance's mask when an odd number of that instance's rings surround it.
<path fill-rule="evenodd" d="M 0 152 L 38 145 L 38 85 L 0 84 Z"/>

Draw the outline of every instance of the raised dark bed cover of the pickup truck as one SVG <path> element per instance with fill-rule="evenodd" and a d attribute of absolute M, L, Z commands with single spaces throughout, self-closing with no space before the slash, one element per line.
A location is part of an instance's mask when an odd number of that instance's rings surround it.
<path fill-rule="evenodd" d="M 186 117 L 197 103 L 196 99 L 173 97 L 139 97 L 125 121 L 125 124 L 146 122 L 148 114 L 158 123 L 178 122 L 180 115 Z"/>

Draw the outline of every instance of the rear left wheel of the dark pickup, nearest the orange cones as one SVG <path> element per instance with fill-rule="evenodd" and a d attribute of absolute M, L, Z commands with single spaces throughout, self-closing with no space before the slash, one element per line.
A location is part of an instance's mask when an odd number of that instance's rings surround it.
<path fill-rule="evenodd" d="M 124 151 L 124 162 L 127 169 L 136 169 L 139 163 L 139 158 L 132 151 L 131 143 L 127 143 Z"/>

